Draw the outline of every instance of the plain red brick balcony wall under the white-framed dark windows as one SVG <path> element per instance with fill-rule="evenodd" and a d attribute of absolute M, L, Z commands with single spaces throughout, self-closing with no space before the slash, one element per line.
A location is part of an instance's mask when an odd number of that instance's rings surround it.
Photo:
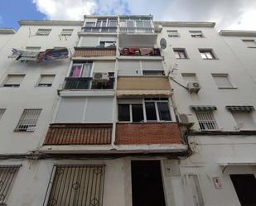
<path fill-rule="evenodd" d="M 181 132 L 177 123 L 118 123 L 117 145 L 181 144 Z"/>

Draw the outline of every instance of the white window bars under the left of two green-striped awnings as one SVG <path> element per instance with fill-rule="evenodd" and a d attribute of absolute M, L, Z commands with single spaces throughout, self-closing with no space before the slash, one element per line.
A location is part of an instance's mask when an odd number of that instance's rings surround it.
<path fill-rule="evenodd" d="M 218 130 L 217 122 L 212 112 L 196 112 L 201 130 Z"/>

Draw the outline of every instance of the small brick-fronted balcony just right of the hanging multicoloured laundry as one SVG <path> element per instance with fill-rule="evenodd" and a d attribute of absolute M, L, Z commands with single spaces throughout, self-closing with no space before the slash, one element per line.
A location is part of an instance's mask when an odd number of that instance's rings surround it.
<path fill-rule="evenodd" d="M 74 57 L 115 56 L 116 47 L 75 47 Z"/>

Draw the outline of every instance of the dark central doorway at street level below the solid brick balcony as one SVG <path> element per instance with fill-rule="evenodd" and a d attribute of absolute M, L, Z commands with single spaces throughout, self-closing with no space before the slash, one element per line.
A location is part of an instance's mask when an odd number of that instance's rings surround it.
<path fill-rule="evenodd" d="M 166 206 L 159 160 L 132 161 L 133 206 Z"/>

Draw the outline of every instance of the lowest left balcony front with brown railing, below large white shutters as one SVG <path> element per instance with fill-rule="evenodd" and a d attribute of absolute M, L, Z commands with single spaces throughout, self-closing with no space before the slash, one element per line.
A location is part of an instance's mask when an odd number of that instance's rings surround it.
<path fill-rule="evenodd" d="M 47 145 L 109 145 L 112 124 L 54 123 L 46 134 Z"/>

